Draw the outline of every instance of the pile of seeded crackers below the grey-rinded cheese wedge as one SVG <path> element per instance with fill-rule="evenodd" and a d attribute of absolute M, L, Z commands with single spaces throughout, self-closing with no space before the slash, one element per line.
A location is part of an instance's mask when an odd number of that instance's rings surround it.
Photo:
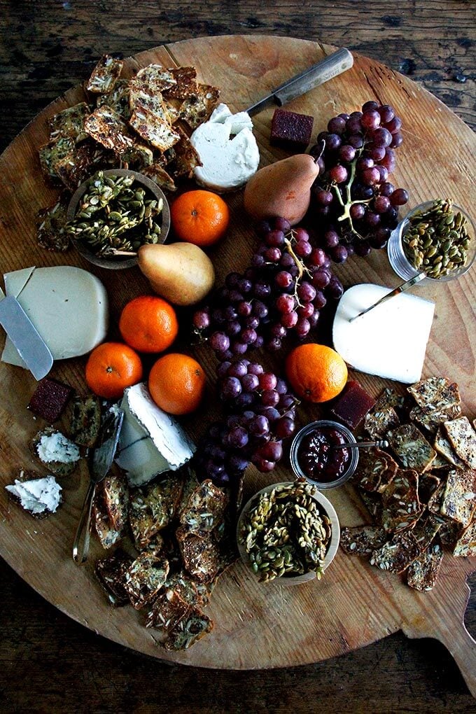
<path fill-rule="evenodd" d="M 236 559 L 228 535 L 228 496 L 211 481 L 169 473 L 129 490 L 118 471 L 100 484 L 93 524 L 103 548 L 124 549 L 96 563 L 111 605 L 146 612 L 144 624 L 166 650 L 187 649 L 211 632 L 208 604 L 218 575 Z M 132 550 L 128 536 L 134 546 Z"/>

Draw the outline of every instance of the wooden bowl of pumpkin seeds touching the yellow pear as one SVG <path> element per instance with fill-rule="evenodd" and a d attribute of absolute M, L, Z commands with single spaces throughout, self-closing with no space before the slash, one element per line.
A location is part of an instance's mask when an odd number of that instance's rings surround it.
<path fill-rule="evenodd" d="M 81 256 L 101 268 L 131 268 L 138 248 L 163 243 L 170 228 L 159 186 L 130 169 L 108 169 L 81 183 L 69 202 L 66 233 Z"/>

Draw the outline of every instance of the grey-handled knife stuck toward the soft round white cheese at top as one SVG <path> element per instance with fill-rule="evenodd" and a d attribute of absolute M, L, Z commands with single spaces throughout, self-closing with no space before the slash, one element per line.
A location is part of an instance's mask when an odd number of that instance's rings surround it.
<path fill-rule="evenodd" d="M 280 84 L 268 96 L 252 104 L 245 111 L 250 116 L 254 116 L 254 114 L 258 114 L 263 109 L 267 109 L 268 106 L 283 106 L 283 104 L 287 104 L 288 101 L 305 94 L 310 89 L 314 89 L 314 87 L 324 84 L 324 82 L 333 79 L 338 74 L 342 74 L 350 69 L 353 64 L 354 58 L 350 51 L 345 47 L 338 49 L 338 51 L 333 52 L 325 59 L 321 59 L 317 64 L 313 64 L 313 66 L 308 67 L 300 74 L 291 77 L 284 84 Z"/>

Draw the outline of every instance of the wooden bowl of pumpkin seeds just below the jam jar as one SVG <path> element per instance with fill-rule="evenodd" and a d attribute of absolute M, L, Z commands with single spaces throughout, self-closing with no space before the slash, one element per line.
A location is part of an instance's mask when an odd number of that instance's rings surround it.
<path fill-rule="evenodd" d="M 299 585 L 320 579 L 339 540 L 332 503 L 305 478 L 266 486 L 238 519 L 238 552 L 260 583 Z"/>

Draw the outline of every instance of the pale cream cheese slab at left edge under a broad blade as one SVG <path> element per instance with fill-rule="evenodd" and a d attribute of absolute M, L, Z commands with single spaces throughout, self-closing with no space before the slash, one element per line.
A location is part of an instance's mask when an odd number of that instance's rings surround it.
<path fill-rule="evenodd" d="M 17 298 L 54 359 L 86 354 L 106 337 L 107 293 L 92 273 L 74 266 L 33 267 L 4 279 L 6 294 Z M 26 368 L 9 338 L 1 360 Z"/>

